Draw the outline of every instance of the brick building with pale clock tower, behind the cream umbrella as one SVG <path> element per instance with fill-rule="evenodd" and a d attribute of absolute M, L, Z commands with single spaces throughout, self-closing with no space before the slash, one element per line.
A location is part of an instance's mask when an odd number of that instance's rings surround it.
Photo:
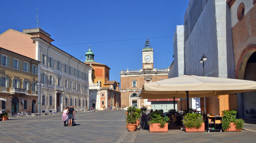
<path fill-rule="evenodd" d="M 138 93 L 143 84 L 168 78 L 169 69 L 153 69 L 153 49 L 147 39 L 142 52 L 142 69 L 122 70 L 121 76 L 121 107 L 146 106 L 151 108 L 147 99 L 139 99 Z"/>

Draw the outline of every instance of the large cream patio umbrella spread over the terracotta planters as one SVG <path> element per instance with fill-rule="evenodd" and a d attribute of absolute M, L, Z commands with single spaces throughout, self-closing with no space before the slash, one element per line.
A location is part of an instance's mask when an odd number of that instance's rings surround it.
<path fill-rule="evenodd" d="M 138 97 L 144 99 L 187 98 L 188 109 L 188 98 L 212 97 L 255 90 L 256 82 L 251 80 L 180 76 L 146 83 Z"/>

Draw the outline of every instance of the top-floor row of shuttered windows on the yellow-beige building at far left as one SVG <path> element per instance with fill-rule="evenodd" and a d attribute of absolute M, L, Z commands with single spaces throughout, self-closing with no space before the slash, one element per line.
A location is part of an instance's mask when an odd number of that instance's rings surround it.
<path fill-rule="evenodd" d="M 13 67 L 14 69 L 21 70 L 20 69 L 20 60 L 13 58 L 12 61 L 13 61 L 13 64 L 11 67 Z M 10 67 L 10 58 L 6 55 L 1 55 L 1 65 Z M 29 72 L 30 71 L 30 63 L 23 61 L 22 62 L 22 70 Z M 36 65 L 32 64 L 31 70 L 32 70 L 32 73 L 37 74 L 38 67 Z"/>

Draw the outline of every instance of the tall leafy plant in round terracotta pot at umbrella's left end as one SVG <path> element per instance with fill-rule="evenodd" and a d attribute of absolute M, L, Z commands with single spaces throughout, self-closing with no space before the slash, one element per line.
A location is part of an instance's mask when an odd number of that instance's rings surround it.
<path fill-rule="evenodd" d="M 140 110 L 137 110 L 136 107 L 129 107 L 127 110 L 127 127 L 129 132 L 134 132 L 137 128 L 138 118 L 140 117 Z"/>

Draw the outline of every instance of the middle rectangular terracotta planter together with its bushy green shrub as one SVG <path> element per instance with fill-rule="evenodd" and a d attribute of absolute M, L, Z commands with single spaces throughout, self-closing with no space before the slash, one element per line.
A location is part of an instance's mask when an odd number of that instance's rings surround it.
<path fill-rule="evenodd" d="M 201 114 L 187 113 L 182 122 L 186 132 L 204 132 L 204 120 Z"/>

